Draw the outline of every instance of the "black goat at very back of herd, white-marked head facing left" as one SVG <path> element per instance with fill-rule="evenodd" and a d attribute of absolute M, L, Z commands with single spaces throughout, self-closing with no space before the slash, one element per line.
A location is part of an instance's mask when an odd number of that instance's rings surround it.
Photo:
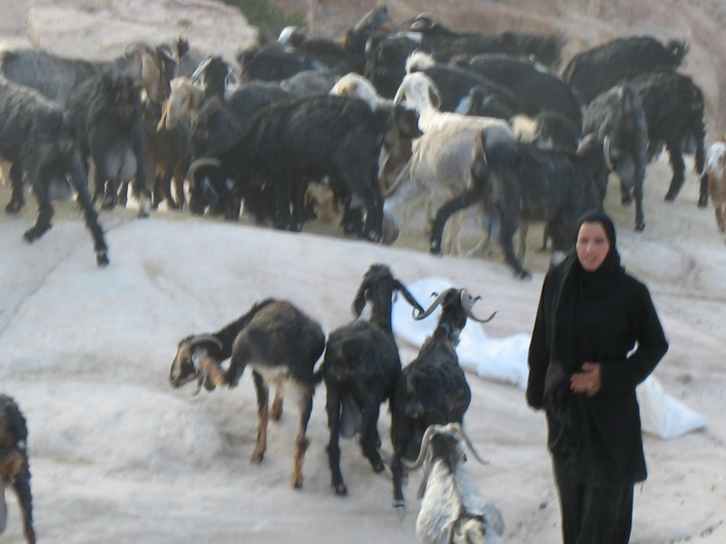
<path fill-rule="evenodd" d="M 461 33 L 446 28 L 435 15 L 420 14 L 410 29 L 424 35 L 423 44 L 439 62 L 465 54 L 505 53 L 550 67 L 560 60 L 561 38 L 556 35 L 516 33 L 506 31 L 495 36 L 480 33 Z"/>

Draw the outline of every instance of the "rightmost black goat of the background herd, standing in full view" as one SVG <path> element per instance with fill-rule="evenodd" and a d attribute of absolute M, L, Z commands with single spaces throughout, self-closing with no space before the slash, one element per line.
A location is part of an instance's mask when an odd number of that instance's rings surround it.
<path fill-rule="evenodd" d="M 668 150 L 673 177 L 665 199 L 674 200 L 685 180 L 683 153 L 694 154 L 693 170 L 699 175 L 706 161 L 703 92 L 689 76 L 669 70 L 640 73 L 623 83 L 632 85 L 643 103 L 648 160 L 658 156 L 663 145 Z M 700 201 L 707 198 L 701 184 Z"/>

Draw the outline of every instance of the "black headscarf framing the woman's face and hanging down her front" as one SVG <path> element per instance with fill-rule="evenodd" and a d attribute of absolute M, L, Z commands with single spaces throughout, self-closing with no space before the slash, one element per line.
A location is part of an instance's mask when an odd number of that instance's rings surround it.
<path fill-rule="evenodd" d="M 600 223 L 610 242 L 610 249 L 603 264 L 593 272 L 586 271 L 580 264 L 575 247 L 560 265 L 563 267 L 562 284 L 554 306 L 552 327 L 552 364 L 544 384 L 545 399 L 554 389 L 566 387 L 569 390 L 570 374 L 577 372 L 575 355 L 576 310 L 585 297 L 599 295 L 613 287 L 624 273 L 620 266 L 620 254 L 615 247 L 615 226 L 613 220 L 602 211 L 588 211 L 577 221 L 577 232 L 584 223 Z"/>

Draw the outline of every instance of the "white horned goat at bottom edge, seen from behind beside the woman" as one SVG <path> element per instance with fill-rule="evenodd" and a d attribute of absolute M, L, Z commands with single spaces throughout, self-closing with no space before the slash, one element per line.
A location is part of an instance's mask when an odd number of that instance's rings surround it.
<path fill-rule="evenodd" d="M 476 489 L 462 466 L 466 448 L 482 461 L 460 423 L 431 425 L 421 441 L 418 459 L 409 469 L 424 466 L 418 489 L 423 499 L 416 521 L 420 544 L 500 544 L 505 520 L 492 502 Z"/>

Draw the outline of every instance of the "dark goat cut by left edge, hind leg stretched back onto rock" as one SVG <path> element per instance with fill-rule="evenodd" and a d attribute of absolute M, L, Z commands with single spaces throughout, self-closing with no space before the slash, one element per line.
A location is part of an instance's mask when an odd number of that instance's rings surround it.
<path fill-rule="evenodd" d="M 78 204 L 93 238 L 96 263 L 99 267 L 107 265 L 103 229 L 98 224 L 71 123 L 63 109 L 40 92 L 0 80 L 0 157 L 13 163 L 13 194 L 5 212 L 17 213 L 25 204 L 24 175 L 38 201 L 38 219 L 33 228 L 25 231 L 25 239 L 33 242 L 51 228 L 54 211 L 49 187 L 54 180 L 67 179 L 78 193 Z"/>

